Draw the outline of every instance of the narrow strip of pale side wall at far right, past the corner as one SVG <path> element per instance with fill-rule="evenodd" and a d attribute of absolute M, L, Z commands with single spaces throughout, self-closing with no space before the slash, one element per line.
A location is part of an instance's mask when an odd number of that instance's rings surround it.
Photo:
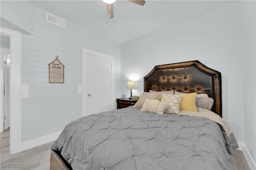
<path fill-rule="evenodd" d="M 244 61 L 244 143 L 256 162 L 256 3 L 242 1 Z"/>

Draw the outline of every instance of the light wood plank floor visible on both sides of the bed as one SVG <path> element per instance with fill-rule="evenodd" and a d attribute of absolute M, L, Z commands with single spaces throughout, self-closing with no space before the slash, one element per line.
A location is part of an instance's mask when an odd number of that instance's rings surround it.
<path fill-rule="evenodd" d="M 49 170 L 50 169 L 50 147 L 53 142 L 28 149 L 17 154 L 10 155 L 10 129 L 0 133 L 1 137 L 1 170 Z M 231 156 L 234 170 L 250 170 L 244 154 L 241 150 L 234 150 Z M 22 168 L 5 168 L 4 163 L 22 163 Z"/>

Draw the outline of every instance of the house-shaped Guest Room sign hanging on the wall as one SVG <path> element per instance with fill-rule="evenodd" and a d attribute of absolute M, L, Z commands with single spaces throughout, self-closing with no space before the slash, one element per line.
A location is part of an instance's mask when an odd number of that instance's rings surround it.
<path fill-rule="evenodd" d="M 49 66 L 49 83 L 64 83 L 64 65 L 58 60 L 59 56 L 48 64 Z"/>

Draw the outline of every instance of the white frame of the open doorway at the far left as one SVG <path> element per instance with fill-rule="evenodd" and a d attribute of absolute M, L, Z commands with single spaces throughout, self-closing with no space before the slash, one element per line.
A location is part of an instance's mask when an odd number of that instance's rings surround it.
<path fill-rule="evenodd" d="M 10 36 L 10 154 L 14 154 L 22 149 L 21 99 L 18 96 L 18 88 L 21 84 L 21 33 L 1 27 L 1 34 Z M 0 118 L 1 126 L 2 118 Z"/>

